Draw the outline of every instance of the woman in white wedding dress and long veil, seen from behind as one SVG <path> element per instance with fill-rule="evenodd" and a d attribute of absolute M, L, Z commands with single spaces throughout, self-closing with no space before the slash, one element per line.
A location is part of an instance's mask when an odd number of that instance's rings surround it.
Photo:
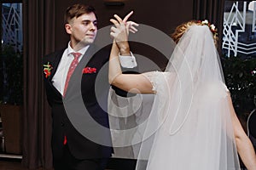
<path fill-rule="evenodd" d="M 125 23 L 114 18 L 109 82 L 131 93 L 155 94 L 137 169 L 236 170 L 238 152 L 247 169 L 255 170 L 253 145 L 224 84 L 215 28 L 183 23 L 172 34 L 177 46 L 164 72 L 122 74 L 119 51 L 130 54 L 130 48 Z"/>

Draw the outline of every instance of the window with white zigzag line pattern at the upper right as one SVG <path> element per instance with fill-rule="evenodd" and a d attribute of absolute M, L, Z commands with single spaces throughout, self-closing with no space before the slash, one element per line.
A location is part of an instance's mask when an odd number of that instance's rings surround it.
<path fill-rule="evenodd" d="M 256 1 L 225 1 L 223 52 L 256 57 Z"/>

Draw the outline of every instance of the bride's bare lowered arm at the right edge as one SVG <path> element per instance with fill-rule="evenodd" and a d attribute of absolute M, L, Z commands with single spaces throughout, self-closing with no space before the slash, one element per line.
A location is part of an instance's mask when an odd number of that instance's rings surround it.
<path fill-rule="evenodd" d="M 241 157 L 241 161 L 247 167 L 247 170 L 256 170 L 256 155 L 253 149 L 253 144 L 241 127 L 241 123 L 239 122 L 234 107 L 232 105 L 230 95 L 228 95 L 228 100 L 230 105 L 232 125 L 234 128 L 234 134 L 236 139 L 236 148 Z"/>

